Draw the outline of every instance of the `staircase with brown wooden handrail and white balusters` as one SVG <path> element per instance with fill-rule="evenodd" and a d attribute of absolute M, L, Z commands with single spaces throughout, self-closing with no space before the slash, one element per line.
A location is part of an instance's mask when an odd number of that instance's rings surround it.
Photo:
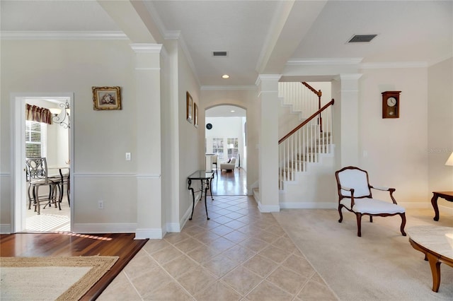
<path fill-rule="evenodd" d="M 307 83 L 279 83 L 279 96 L 282 106 L 290 107 L 289 111 L 299 118 L 299 125 L 279 141 L 280 206 L 324 208 L 316 202 L 322 198 L 330 201 L 330 196 L 322 196 L 322 185 L 331 184 L 323 182 L 323 178 L 333 171 L 334 101 L 321 107 L 321 90 L 316 91 Z"/>

